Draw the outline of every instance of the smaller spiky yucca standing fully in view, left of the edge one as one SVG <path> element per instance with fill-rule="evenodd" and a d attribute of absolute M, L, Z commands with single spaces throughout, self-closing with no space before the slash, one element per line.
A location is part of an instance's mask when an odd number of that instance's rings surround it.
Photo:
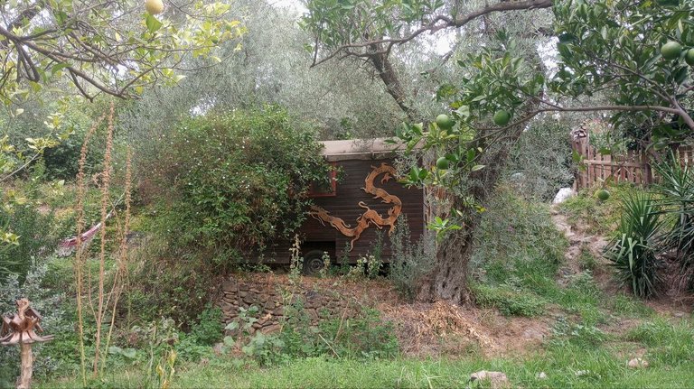
<path fill-rule="evenodd" d="M 617 277 L 632 286 L 633 294 L 652 297 L 661 282 L 659 233 L 661 214 L 652 196 L 637 193 L 624 199 L 622 220 L 617 235 L 605 247 L 605 257 L 617 270 Z"/>

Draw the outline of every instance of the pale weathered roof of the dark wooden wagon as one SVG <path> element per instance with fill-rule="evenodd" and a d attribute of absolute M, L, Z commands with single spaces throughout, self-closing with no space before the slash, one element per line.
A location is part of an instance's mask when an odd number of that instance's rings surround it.
<path fill-rule="evenodd" d="M 387 144 L 389 138 L 352 139 L 349 141 L 323 141 L 321 154 L 328 161 L 381 160 L 393 156 L 404 147 L 401 144 Z"/>

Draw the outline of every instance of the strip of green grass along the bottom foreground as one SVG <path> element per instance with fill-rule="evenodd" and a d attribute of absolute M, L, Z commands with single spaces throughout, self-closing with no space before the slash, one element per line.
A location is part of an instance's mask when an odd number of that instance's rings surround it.
<path fill-rule="evenodd" d="M 586 349 L 576 345 L 549 347 L 525 358 L 468 359 L 295 359 L 281 366 L 261 368 L 252 362 L 213 358 L 207 364 L 178 366 L 172 387 L 233 388 L 464 388 L 475 371 L 502 371 L 512 387 L 622 388 L 690 387 L 694 382 L 694 362 L 684 360 L 674 366 L 652 364 L 641 370 L 628 369 L 626 358 L 607 348 Z M 577 371 L 586 371 L 577 376 Z M 539 372 L 548 375 L 539 380 Z M 142 376 L 134 369 L 108 374 L 90 386 L 140 387 Z M 79 386 L 74 380 L 38 383 L 40 388 Z M 472 386 L 474 387 L 474 386 Z"/>

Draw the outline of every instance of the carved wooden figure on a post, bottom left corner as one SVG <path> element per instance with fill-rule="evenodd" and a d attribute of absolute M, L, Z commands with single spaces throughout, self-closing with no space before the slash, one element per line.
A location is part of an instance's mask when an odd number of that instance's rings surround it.
<path fill-rule="evenodd" d="M 47 342 L 53 336 L 36 334 L 36 331 L 43 332 L 39 324 L 41 315 L 29 306 L 29 300 L 19 299 L 16 302 L 17 313 L 3 317 L 0 345 L 21 347 L 22 374 L 17 378 L 17 389 L 29 389 L 32 384 L 33 370 L 32 343 Z"/>

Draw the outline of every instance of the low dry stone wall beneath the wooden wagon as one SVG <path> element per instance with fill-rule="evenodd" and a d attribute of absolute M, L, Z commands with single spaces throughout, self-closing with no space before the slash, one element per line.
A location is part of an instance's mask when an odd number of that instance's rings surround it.
<path fill-rule="evenodd" d="M 348 289 L 340 288 L 334 283 L 316 279 L 292 283 L 286 276 L 272 274 L 232 276 L 221 284 L 220 292 L 220 308 L 225 326 L 239 320 L 239 308 L 248 310 L 254 305 L 258 307 L 258 313 L 253 315 L 258 321 L 253 323 L 251 332 L 278 331 L 285 317 L 287 304 L 303 306 L 312 325 L 318 325 L 321 320 L 354 317 L 361 307 L 370 305 L 369 299 L 355 296 Z"/>

